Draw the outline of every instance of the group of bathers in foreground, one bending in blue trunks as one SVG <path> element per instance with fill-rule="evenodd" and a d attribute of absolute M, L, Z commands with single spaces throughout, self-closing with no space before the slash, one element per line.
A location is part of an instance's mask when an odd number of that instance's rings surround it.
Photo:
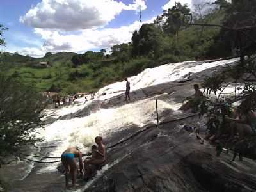
<path fill-rule="evenodd" d="M 61 155 L 61 162 L 65 168 L 65 184 L 68 188 L 68 175 L 72 175 L 72 186 L 76 186 L 77 161 L 79 159 L 79 177 L 88 180 L 96 170 L 99 170 L 106 163 L 106 147 L 101 136 L 95 138 L 96 145 L 92 145 L 92 157 L 82 160 L 82 153 L 77 147 L 70 147 Z"/>

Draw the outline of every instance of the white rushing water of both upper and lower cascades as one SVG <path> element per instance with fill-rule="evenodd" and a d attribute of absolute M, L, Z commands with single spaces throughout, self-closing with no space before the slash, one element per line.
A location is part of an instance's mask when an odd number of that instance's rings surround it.
<path fill-rule="evenodd" d="M 207 68 L 226 65 L 236 62 L 237 59 L 216 61 L 212 63 L 202 62 L 182 62 L 162 65 L 156 68 L 146 69 L 138 76 L 129 77 L 131 91 L 160 83 L 175 81 L 193 72 L 200 72 Z M 99 90 L 99 95 L 95 100 L 106 100 L 125 92 L 125 81 L 110 84 Z M 102 94 L 104 93 L 104 94 Z M 45 118 L 75 113 L 81 109 L 86 109 L 91 104 L 91 100 L 84 103 L 84 98 L 78 99 L 74 106 L 67 106 L 61 109 L 46 110 Z M 142 107 L 143 106 L 143 107 Z M 159 101 L 159 112 L 164 109 L 177 111 L 180 104 L 175 102 L 166 104 Z M 113 132 L 122 131 L 129 125 L 142 127 L 149 122 L 155 122 L 155 103 L 152 99 L 143 99 L 138 102 L 124 104 L 116 108 L 100 109 L 89 116 L 72 118 L 70 120 L 56 120 L 53 124 L 47 125 L 44 130 L 40 129 L 39 136 L 44 137 L 44 143 L 40 146 L 57 146 L 51 151 L 50 156 L 61 156 L 61 153 L 68 146 L 78 146 L 82 152 L 86 153 L 94 143 L 95 136 L 109 137 Z M 177 113 L 180 113 L 177 111 Z M 138 128 L 140 129 L 140 128 Z M 122 138 L 120 138 L 122 139 Z M 108 167 L 108 166 L 107 166 Z M 52 172 L 56 170 L 56 163 L 49 164 L 38 171 L 38 174 Z"/>

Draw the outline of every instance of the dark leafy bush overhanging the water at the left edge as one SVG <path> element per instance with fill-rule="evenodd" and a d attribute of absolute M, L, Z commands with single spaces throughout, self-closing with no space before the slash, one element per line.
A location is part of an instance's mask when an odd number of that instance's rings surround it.
<path fill-rule="evenodd" d="M 26 86 L 15 76 L 0 73 L 0 154 L 35 143 L 36 128 L 43 125 L 42 97 L 32 86 Z"/>

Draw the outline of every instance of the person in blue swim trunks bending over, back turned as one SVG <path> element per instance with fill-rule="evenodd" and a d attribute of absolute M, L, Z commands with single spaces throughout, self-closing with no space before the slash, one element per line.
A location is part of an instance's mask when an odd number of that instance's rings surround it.
<path fill-rule="evenodd" d="M 79 158 L 79 168 L 80 174 L 83 176 L 83 162 L 82 162 L 82 153 L 77 147 L 67 148 L 61 155 L 61 162 L 65 167 L 65 181 L 66 188 L 68 188 L 68 174 L 72 174 L 72 187 L 76 184 L 76 175 L 77 175 L 77 164 L 76 157 Z"/>

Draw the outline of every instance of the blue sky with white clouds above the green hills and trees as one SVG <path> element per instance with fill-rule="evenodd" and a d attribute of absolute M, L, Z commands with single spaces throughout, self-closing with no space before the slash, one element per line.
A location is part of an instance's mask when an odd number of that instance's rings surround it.
<path fill-rule="evenodd" d="M 212 0 L 176 0 L 193 4 Z M 109 50 L 131 42 L 141 22 L 153 22 L 175 0 L 0 0 L 5 47 L 0 51 L 41 57 L 45 52 Z"/>

